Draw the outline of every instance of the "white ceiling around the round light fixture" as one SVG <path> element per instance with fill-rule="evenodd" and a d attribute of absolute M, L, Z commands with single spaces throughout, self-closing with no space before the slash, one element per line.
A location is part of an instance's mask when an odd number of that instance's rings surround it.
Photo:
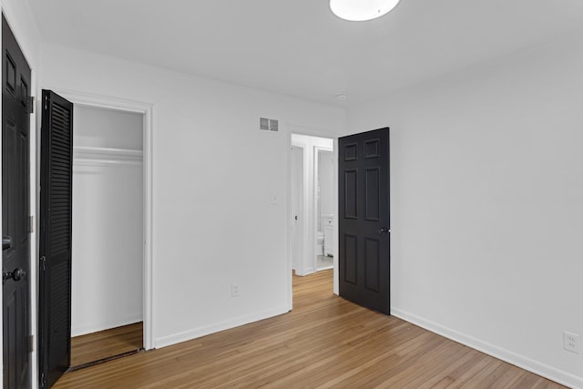
<path fill-rule="evenodd" d="M 583 0 L 401 0 L 361 23 L 328 0 L 28 2 L 46 41 L 343 105 L 583 31 Z"/>

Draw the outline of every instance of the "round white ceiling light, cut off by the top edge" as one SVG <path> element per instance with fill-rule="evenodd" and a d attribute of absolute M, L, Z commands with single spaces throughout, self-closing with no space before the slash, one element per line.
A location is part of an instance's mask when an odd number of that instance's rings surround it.
<path fill-rule="evenodd" d="M 388 14 L 399 0 L 330 0 L 334 15 L 352 22 L 376 19 Z"/>

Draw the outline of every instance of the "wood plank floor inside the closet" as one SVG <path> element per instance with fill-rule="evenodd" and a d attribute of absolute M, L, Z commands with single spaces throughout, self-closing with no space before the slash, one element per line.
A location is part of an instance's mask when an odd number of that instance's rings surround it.
<path fill-rule="evenodd" d="M 71 366 L 92 363 L 142 348 L 143 324 L 137 322 L 71 339 Z"/>

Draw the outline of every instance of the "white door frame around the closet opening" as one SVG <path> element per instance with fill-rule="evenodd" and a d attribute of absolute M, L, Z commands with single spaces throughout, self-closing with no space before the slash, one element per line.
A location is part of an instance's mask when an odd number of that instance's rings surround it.
<path fill-rule="evenodd" d="M 144 127 L 142 129 L 143 139 L 143 310 L 144 310 L 144 333 L 143 347 L 146 350 L 154 348 L 153 337 L 153 222 L 152 222 L 152 199 L 153 199 L 153 104 L 120 99 L 117 97 L 97 96 L 83 92 L 66 89 L 53 89 L 58 95 L 65 97 L 74 105 L 85 107 L 97 107 L 115 109 L 142 114 L 144 116 Z M 36 307 L 35 307 L 36 309 Z"/>

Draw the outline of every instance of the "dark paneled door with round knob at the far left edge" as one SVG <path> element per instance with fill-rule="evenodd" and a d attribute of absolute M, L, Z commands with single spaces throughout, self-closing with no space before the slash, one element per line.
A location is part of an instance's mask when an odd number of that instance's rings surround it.
<path fill-rule="evenodd" d="M 30 67 L 2 15 L 4 387 L 30 386 Z"/>

